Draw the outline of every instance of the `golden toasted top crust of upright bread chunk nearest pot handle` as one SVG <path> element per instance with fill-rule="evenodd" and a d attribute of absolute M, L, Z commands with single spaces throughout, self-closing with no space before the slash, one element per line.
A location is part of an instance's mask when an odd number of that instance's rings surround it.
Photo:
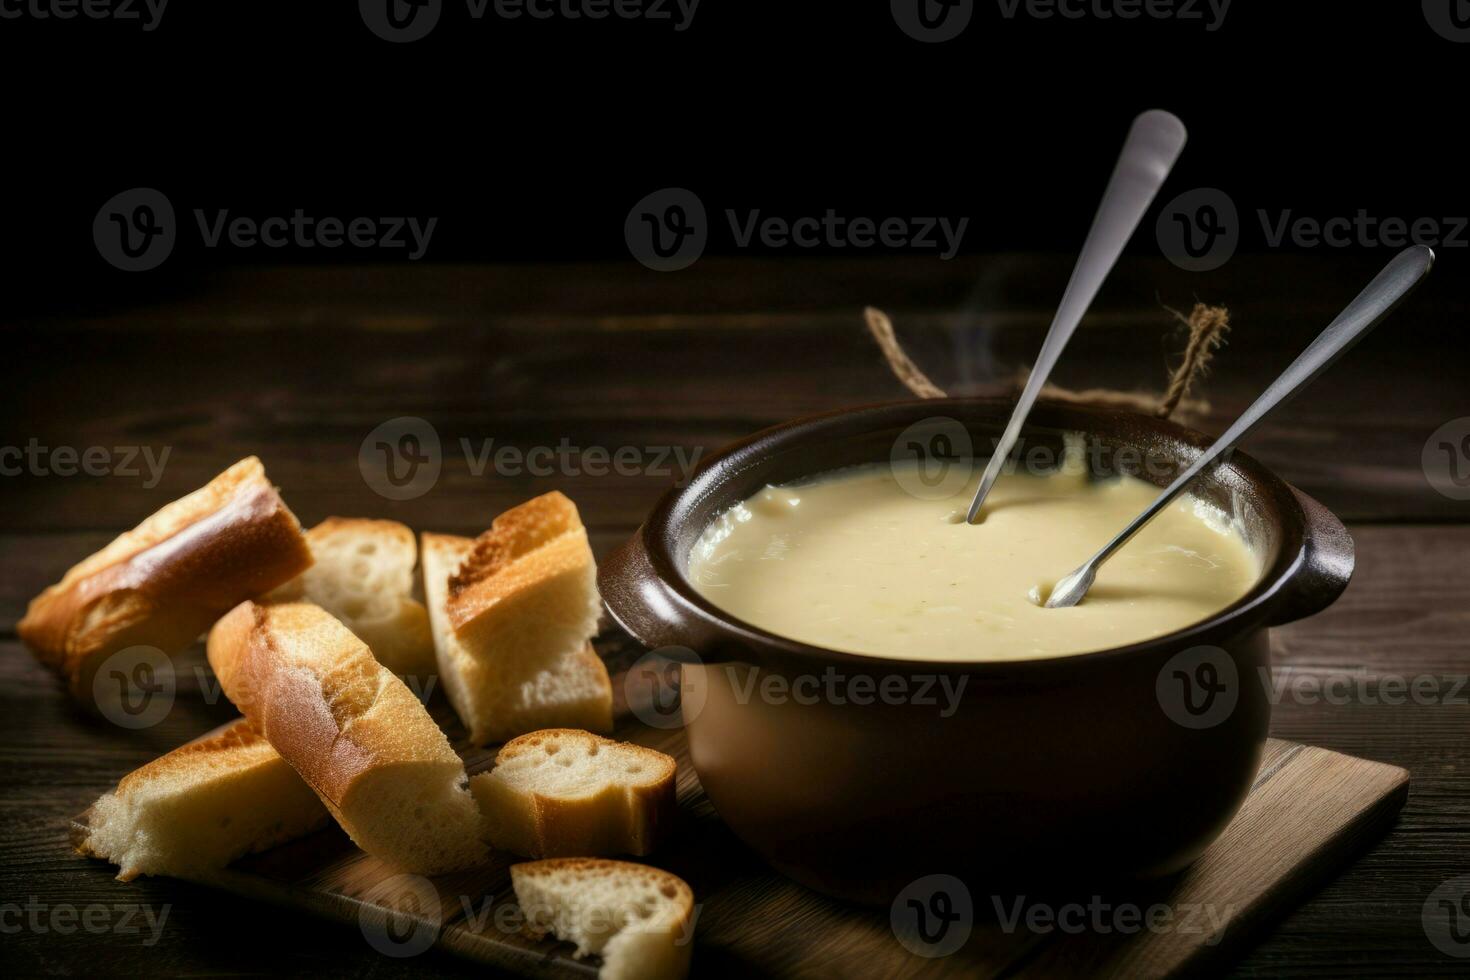
<path fill-rule="evenodd" d="M 529 561 L 520 561 L 528 557 Z M 463 632 L 517 592 L 591 563 L 592 550 L 576 504 L 560 491 L 528 500 L 495 517 L 450 576 L 450 623 Z"/>

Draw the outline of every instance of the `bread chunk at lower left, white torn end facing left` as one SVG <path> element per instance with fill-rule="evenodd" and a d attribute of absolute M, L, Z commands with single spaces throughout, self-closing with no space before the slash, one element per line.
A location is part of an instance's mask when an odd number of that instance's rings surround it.
<path fill-rule="evenodd" d="M 74 843 L 116 864 L 119 882 L 198 879 L 326 821 L 316 793 L 238 718 L 123 776 Z"/>

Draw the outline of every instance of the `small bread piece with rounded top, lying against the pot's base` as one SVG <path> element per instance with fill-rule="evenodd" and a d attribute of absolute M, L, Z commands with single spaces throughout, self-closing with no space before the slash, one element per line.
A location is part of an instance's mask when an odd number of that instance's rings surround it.
<path fill-rule="evenodd" d="M 529 858 L 650 854 L 673 824 L 676 763 L 642 745 L 548 729 L 469 780 L 495 848 Z"/>

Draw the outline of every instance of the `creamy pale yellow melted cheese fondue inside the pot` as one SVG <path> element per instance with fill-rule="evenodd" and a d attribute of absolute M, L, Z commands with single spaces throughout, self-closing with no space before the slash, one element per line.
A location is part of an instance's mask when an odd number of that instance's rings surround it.
<path fill-rule="evenodd" d="M 922 500 L 916 463 L 767 486 L 706 529 L 689 582 L 772 633 L 903 660 L 1030 660 L 1120 646 L 1198 623 L 1245 595 L 1258 563 L 1226 516 L 1182 495 L 1098 573 L 1080 605 L 1051 586 L 1135 517 L 1158 488 L 1082 467 L 1003 476 L 983 523 L 979 482 Z"/>

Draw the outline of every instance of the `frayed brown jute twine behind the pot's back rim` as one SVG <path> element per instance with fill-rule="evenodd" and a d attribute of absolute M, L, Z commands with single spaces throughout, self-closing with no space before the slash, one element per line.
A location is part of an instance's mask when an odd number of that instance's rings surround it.
<path fill-rule="evenodd" d="M 1210 414 L 1210 403 L 1202 398 L 1188 398 L 1191 386 L 1201 378 L 1204 378 L 1207 369 L 1210 367 L 1210 360 L 1214 357 L 1216 350 L 1225 344 L 1225 335 L 1230 331 L 1230 313 L 1223 306 L 1205 306 L 1204 303 L 1195 303 L 1189 316 L 1185 316 L 1179 310 L 1170 310 L 1164 307 L 1169 313 L 1189 329 L 1189 339 L 1185 344 L 1183 356 L 1179 364 L 1173 369 L 1169 376 L 1169 385 L 1164 388 L 1163 395 L 1151 395 L 1141 391 L 1116 391 L 1113 388 L 1083 388 L 1082 391 L 1072 391 L 1070 388 L 1061 388 L 1060 385 L 1042 385 L 1041 397 L 1054 398 L 1057 401 L 1072 401 L 1085 403 L 1092 406 L 1104 406 L 1110 408 L 1130 408 L 1133 411 L 1147 411 L 1160 419 L 1167 419 L 1175 411 L 1183 411 L 1185 414 L 1205 416 Z M 914 364 L 913 359 L 898 342 L 898 336 L 894 334 L 894 323 L 888 319 L 888 314 L 876 307 L 867 307 L 863 310 L 863 317 L 867 320 L 867 329 L 872 332 L 873 339 L 878 341 L 878 347 L 883 351 L 883 359 L 888 361 L 888 367 L 894 372 L 894 376 L 904 383 L 908 391 L 914 392 L 920 398 L 944 398 L 944 388 L 929 381 L 929 376 Z M 1026 383 L 1028 372 L 1020 372 L 1014 379 L 1014 386 L 1019 391 Z"/>

